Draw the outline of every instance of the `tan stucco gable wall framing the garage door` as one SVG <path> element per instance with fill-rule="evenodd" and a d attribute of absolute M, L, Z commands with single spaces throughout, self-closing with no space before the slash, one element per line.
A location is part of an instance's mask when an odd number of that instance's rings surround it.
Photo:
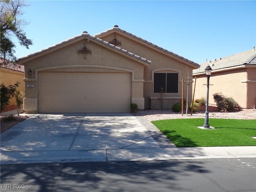
<path fill-rule="evenodd" d="M 78 50 L 84 48 L 92 50 L 92 54 L 78 54 Z M 34 87 L 25 90 L 24 110 L 26 112 L 38 112 L 38 73 L 39 72 L 124 72 L 132 74 L 131 102 L 136 101 L 140 109 L 144 109 L 143 81 L 144 65 L 138 60 L 120 54 L 116 50 L 110 50 L 98 42 L 84 38 L 79 42 L 58 48 L 53 52 L 40 57 L 34 57 L 23 63 L 26 71 L 25 86 L 34 84 Z M 32 75 L 28 74 L 29 69 Z"/>

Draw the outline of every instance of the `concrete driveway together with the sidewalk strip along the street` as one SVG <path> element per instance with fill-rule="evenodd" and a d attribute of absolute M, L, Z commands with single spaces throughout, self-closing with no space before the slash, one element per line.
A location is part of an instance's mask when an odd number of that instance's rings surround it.
<path fill-rule="evenodd" d="M 143 116 L 33 114 L 1 134 L 1 164 L 256 157 L 256 146 L 176 148 Z"/>

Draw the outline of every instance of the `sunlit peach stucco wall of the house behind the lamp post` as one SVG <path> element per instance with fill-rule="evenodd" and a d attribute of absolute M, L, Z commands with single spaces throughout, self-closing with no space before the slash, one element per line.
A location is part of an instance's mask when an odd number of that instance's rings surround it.
<path fill-rule="evenodd" d="M 253 106 L 251 101 L 253 102 L 254 100 L 255 102 L 255 91 L 251 92 L 253 88 L 248 89 L 248 86 L 254 86 L 255 90 L 255 84 L 246 83 L 244 82 L 245 80 L 247 80 L 246 68 L 213 72 L 210 76 L 210 84 L 213 85 L 210 85 L 209 88 L 209 104 L 216 104 L 212 95 L 217 92 L 222 92 L 225 96 L 234 98 L 242 108 L 251 108 Z M 195 99 L 206 98 L 206 85 L 204 85 L 206 83 L 205 74 L 196 76 Z M 249 100 L 250 104 L 248 103 Z"/>

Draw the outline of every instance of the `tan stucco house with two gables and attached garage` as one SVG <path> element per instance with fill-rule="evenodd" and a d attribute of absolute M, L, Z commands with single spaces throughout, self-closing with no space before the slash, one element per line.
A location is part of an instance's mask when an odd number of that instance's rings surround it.
<path fill-rule="evenodd" d="M 171 108 L 181 100 L 182 78 L 199 67 L 118 26 L 94 36 L 85 31 L 18 63 L 25 66 L 27 113 L 129 112 L 131 103 L 155 109 L 160 88 L 163 108 Z"/>

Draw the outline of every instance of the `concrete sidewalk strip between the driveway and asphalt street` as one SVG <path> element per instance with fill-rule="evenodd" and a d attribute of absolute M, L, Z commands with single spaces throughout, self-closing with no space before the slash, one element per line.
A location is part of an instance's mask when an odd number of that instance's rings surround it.
<path fill-rule="evenodd" d="M 1 152 L 1 164 L 196 158 L 256 158 L 256 146 Z"/>

